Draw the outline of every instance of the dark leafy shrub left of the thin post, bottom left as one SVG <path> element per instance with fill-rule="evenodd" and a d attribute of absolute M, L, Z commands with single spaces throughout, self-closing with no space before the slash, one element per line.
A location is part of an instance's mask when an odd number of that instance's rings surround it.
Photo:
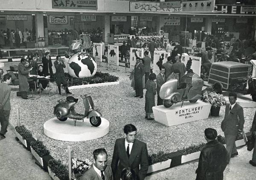
<path fill-rule="evenodd" d="M 69 180 L 68 166 L 62 164 L 61 160 L 49 160 L 48 172 L 53 180 Z"/>

